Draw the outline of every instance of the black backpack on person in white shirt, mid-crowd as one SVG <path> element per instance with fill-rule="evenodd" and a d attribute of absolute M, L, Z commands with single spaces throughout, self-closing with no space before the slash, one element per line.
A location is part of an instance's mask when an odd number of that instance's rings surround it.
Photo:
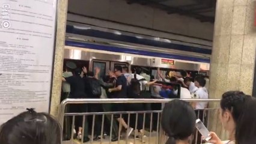
<path fill-rule="evenodd" d="M 132 92 L 132 95 L 140 95 L 141 94 L 141 81 L 145 79 L 138 80 L 136 78 L 136 73 L 134 74 L 133 79 L 130 80 L 130 90 Z"/>

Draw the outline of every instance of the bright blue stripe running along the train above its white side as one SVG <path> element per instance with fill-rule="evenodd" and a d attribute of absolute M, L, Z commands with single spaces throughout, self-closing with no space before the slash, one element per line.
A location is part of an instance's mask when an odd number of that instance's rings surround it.
<path fill-rule="evenodd" d="M 102 46 L 99 44 L 80 43 L 80 42 L 76 42 L 76 41 L 67 41 L 66 40 L 66 46 L 83 47 L 83 48 L 87 48 L 87 49 L 106 50 L 109 52 L 130 53 L 130 54 L 135 54 L 135 55 L 155 56 L 155 57 L 160 57 L 160 58 L 181 59 L 181 60 L 186 60 L 186 61 L 210 63 L 210 59 L 204 59 L 204 58 L 193 58 L 193 57 L 189 57 L 189 56 L 173 55 L 173 54 L 168 54 L 168 53 L 148 52 L 146 50 L 127 49 L 124 47 Z"/>

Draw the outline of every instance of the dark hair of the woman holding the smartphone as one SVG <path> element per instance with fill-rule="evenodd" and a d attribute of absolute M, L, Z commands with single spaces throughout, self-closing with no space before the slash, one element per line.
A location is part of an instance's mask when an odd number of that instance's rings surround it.
<path fill-rule="evenodd" d="M 236 143 L 256 143 L 256 127 L 252 127 L 252 124 L 256 121 L 255 106 L 255 100 L 241 91 L 228 91 L 222 95 L 221 109 L 222 111 L 229 110 L 236 124 Z M 252 139 L 255 141 L 248 142 Z"/>

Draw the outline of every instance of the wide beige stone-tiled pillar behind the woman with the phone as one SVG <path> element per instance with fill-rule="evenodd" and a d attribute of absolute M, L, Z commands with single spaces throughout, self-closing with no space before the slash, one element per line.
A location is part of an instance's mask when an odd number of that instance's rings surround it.
<path fill-rule="evenodd" d="M 255 43 L 254 0 L 218 0 L 210 64 L 210 98 L 221 98 L 230 90 L 252 94 Z M 212 130 L 225 138 L 217 113 L 213 116 L 216 121 L 212 123 Z"/>

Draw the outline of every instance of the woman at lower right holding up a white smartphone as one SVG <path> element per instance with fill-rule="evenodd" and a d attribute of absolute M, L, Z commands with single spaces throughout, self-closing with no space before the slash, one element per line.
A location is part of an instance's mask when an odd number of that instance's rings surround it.
<path fill-rule="evenodd" d="M 226 144 L 256 143 L 256 100 L 240 91 L 228 91 L 222 95 L 221 112 L 222 127 L 229 133 Z M 209 134 L 209 143 L 222 144 L 214 132 Z"/>

